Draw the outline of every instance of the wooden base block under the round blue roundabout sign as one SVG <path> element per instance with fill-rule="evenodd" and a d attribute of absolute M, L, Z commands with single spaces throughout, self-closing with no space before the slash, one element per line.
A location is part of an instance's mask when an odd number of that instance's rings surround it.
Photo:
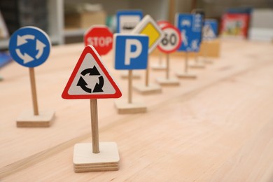
<path fill-rule="evenodd" d="M 37 116 L 33 111 L 24 111 L 18 117 L 17 127 L 50 127 L 54 118 L 55 111 L 40 111 Z"/>

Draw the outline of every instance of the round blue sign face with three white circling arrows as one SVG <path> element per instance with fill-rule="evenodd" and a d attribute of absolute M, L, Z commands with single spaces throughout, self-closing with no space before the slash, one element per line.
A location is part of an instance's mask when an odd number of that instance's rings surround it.
<path fill-rule="evenodd" d="M 8 48 L 15 62 L 33 68 L 48 59 L 51 43 L 45 31 L 29 26 L 22 27 L 11 35 Z"/>

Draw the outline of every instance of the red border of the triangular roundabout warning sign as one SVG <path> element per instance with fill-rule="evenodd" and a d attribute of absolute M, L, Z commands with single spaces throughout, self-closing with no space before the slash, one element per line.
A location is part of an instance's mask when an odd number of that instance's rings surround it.
<path fill-rule="evenodd" d="M 83 64 L 83 60 L 85 59 L 85 56 L 87 54 L 92 55 L 92 57 L 94 58 L 94 61 L 97 62 L 97 65 L 100 67 L 104 76 L 106 77 L 106 78 L 104 77 L 104 79 L 108 79 L 109 82 L 107 82 L 107 83 L 111 84 L 111 85 L 104 85 L 103 87 L 112 86 L 113 89 L 115 90 L 114 93 L 109 94 L 109 93 L 104 93 L 102 91 L 102 92 L 96 92 L 95 94 L 94 93 L 92 93 L 92 94 L 89 94 L 89 93 L 69 94 L 69 89 L 71 88 L 73 80 L 76 78 L 76 75 L 78 74 L 80 66 Z M 93 59 L 90 59 L 90 62 L 92 62 L 92 60 Z M 75 85 L 72 85 L 72 87 L 75 87 Z M 83 50 L 82 54 L 80 55 L 80 58 L 78 59 L 78 62 L 76 64 L 75 68 L 73 69 L 73 72 L 71 73 L 71 76 L 70 76 L 66 86 L 64 87 L 64 91 L 62 92 L 62 98 L 64 98 L 64 99 L 107 99 L 107 98 L 119 98 L 119 97 L 121 97 L 121 95 L 122 95 L 122 93 L 120 92 L 118 85 L 115 83 L 113 78 L 110 76 L 109 72 L 104 67 L 104 64 L 102 63 L 102 59 L 99 56 L 99 54 L 97 53 L 97 50 L 95 50 L 95 48 L 92 45 L 86 46 L 85 49 Z"/>

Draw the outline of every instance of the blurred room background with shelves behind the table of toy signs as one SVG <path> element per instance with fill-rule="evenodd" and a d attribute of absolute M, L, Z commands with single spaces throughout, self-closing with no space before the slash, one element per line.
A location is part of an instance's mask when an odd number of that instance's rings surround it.
<path fill-rule="evenodd" d="M 155 20 L 174 23 L 175 13 L 204 9 L 218 20 L 223 37 L 273 40 L 273 0 L 0 0 L 0 49 L 16 29 L 33 25 L 46 31 L 52 44 L 83 41 L 91 25 L 105 24 L 116 31 L 116 11 L 141 9 Z"/>

